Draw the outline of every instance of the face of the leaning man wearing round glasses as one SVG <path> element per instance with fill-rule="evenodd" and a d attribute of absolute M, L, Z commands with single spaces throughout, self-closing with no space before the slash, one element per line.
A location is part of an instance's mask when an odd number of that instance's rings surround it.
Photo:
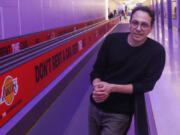
<path fill-rule="evenodd" d="M 143 42 L 152 30 L 151 17 L 148 13 L 138 10 L 133 14 L 129 27 L 131 40 L 135 43 Z"/>

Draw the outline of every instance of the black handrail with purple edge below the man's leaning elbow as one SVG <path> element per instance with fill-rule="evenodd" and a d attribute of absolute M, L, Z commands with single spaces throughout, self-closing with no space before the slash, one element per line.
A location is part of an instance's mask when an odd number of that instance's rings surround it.
<path fill-rule="evenodd" d="M 135 95 L 135 135 L 158 135 L 148 93 Z"/>

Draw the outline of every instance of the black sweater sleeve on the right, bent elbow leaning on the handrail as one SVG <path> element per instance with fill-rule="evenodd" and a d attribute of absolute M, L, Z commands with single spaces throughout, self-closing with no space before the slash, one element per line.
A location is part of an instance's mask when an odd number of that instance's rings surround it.
<path fill-rule="evenodd" d="M 144 93 L 151 91 L 156 81 L 160 78 L 165 65 L 165 50 L 163 47 L 158 48 L 150 60 L 144 77 L 140 81 L 133 83 L 134 93 Z"/>

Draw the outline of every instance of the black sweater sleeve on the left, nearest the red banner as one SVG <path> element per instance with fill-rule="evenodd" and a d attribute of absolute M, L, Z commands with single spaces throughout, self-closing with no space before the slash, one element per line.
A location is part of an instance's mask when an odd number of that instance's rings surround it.
<path fill-rule="evenodd" d="M 95 64 L 93 66 L 93 70 L 90 74 L 91 82 L 95 78 L 103 79 L 103 75 L 105 73 L 107 67 L 107 59 L 108 59 L 108 45 L 110 44 L 110 36 L 107 36 L 98 52 Z"/>

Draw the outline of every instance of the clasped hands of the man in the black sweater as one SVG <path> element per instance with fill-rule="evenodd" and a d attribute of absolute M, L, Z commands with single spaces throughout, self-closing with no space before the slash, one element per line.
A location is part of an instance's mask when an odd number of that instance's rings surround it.
<path fill-rule="evenodd" d="M 104 102 L 111 93 L 111 84 L 107 82 L 97 82 L 93 84 L 93 99 L 97 103 Z"/>

